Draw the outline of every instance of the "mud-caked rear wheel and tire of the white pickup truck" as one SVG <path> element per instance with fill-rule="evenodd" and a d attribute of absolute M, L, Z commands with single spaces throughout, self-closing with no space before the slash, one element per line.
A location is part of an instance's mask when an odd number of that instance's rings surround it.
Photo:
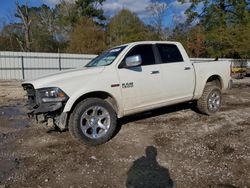
<path fill-rule="evenodd" d="M 220 110 L 221 98 L 221 89 L 216 85 L 207 84 L 197 101 L 197 108 L 202 114 L 213 115 Z"/>

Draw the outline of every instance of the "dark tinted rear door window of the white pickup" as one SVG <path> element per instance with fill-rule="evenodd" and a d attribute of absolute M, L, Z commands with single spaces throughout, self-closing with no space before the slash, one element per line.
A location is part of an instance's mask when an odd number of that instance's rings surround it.
<path fill-rule="evenodd" d="M 176 45 L 157 44 L 156 46 L 159 50 L 162 63 L 174 63 L 183 61 L 182 55 Z"/>

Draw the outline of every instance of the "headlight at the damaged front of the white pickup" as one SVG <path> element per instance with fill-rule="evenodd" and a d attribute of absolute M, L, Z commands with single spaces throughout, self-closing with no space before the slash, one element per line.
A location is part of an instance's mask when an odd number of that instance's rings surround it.
<path fill-rule="evenodd" d="M 39 98 L 42 102 L 63 102 L 68 100 L 68 96 L 57 87 L 38 89 Z"/>

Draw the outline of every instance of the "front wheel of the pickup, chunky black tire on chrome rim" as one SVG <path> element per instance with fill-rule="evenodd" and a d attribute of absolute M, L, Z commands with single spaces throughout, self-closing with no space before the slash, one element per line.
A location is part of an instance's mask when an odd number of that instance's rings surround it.
<path fill-rule="evenodd" d="M 112 106 L 99 98 L 80 102 L 69 119 L 71 136 L 86 145 L 95 146 L 110 140 L 115 132 L 117 117 Z"/>

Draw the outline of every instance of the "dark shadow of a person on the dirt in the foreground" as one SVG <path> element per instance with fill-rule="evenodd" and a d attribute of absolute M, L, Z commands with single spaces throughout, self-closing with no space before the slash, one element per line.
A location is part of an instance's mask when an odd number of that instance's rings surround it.
<path fill-rule="evenodd" d="M 127 172 L 127 188 L 172 188 L 173 181 L 168 169 L 157 162 L 157 149 L 148 146 L 146 155 L 133 162 Z"/>

